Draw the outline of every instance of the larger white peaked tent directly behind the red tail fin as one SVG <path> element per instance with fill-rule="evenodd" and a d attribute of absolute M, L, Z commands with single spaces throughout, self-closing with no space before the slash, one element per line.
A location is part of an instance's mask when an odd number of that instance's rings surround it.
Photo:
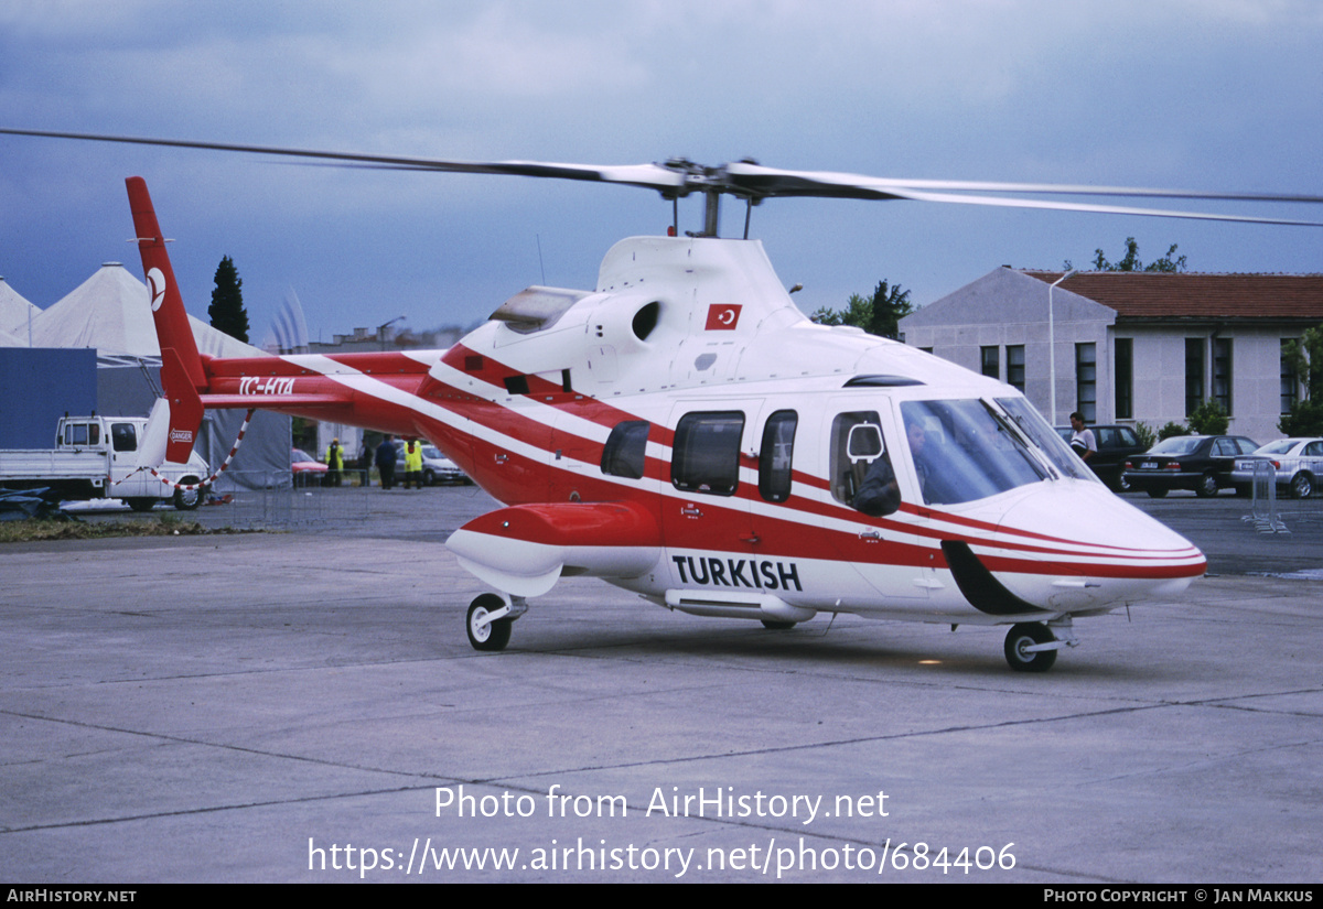
<path fill-rule="evenodd" d="M 188 317 L 198 353 L 263 357 L 200 318 Z M 3 328 L 3 326 L 0 326 Z M 160 357 L 147 285 L 118 262 L 107 262 L 64 300 L 32 320 L 34 347 L 95 347 L 103 355 Z"/>

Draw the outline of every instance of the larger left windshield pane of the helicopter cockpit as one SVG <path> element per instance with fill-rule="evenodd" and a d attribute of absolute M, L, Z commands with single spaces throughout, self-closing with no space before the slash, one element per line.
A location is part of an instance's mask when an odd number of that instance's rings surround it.
<path fill-rule="evenodd" d="M 1024 440 L 976 398 L 908 400 L 901 416 L 929 505 L 972 502 L 1050 476 Z"/>

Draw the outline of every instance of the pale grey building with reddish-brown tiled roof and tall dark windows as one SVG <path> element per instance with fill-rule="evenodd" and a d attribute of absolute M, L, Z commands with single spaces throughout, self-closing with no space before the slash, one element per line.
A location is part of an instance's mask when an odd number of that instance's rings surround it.
<path fill-rule="evenodd" d="M 1323 275 L 1062 275 L 998 268 L 902 318 L 901 338 L 1020 388 L 1054 425 L 1078 410 L 1159 428 L 1213 399 L 1232 433 L 1281 437 L 1303 394 L 1283 346 L 1323 324 Z"/>

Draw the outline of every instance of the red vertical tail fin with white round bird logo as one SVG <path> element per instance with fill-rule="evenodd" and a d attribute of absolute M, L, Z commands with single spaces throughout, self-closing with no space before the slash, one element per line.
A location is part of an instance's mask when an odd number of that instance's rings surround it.
<path fill-rule="evenodd" d="M 130 177 L 124 184 L 128 188 L 128 206 L 134 213 L 138 251 L 143 256 L 143 273 L 152 296 L 152 318 L 156 321 L 156 340 L 161 347 L 161 390 L 167 402 L 165 408 L 157 404 L 152 410 L 147 435 L 156 440 L 165 439 L 167 460 L 187 461 L 193 451 L 197 427 L 202 421 L 198 391 L 206 388 L 206 373 L 197 354 L 197 341 L 188 324 L 169 254 L 165 252 L 165 238 L 156 223 L 147 181 Z M 168 425 L 160 425 L 163 420 Z M 159 443 L 149 449 L 152 460 L 160 464 Z"/>

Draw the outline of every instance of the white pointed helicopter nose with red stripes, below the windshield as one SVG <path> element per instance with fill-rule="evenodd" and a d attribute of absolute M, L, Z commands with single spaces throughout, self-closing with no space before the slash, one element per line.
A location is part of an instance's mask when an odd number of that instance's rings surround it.
<path fill-rule="evenodd" d="M 1013 571 L 990 560 L 998 579 L 1062 609 L 1176 593 L 1208 567 L 1193 543 L 1095 482 L 1040 485 L 1003 514 L 999 531 L 1021 542 L 1019 556 L 1005 552 Z"/>

